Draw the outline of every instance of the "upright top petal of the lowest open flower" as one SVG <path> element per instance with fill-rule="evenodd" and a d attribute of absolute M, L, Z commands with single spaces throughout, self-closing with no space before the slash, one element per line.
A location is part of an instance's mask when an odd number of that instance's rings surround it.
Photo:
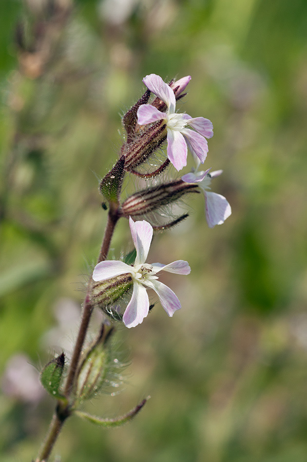
<path fill-rule="evenodd" d="M 131 217 L 129 217 L 129 226 L 137 251 L 135 265 L 145 263 L 152 239 L 152 226 L 145 220 L 135 222 Z"/>

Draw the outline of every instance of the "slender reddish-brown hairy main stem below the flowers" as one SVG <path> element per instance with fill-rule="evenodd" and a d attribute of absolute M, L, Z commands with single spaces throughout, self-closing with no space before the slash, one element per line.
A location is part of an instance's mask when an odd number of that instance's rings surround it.
<path fill-rule="evenodd" d="M 107 254 L 110 248 L 111 239 L 112 239 L 113 232 L 114 232 L 114 228 L 116 226 L 118 219 L 119 219 L 118 205 L 114 204 L 114 206 L 110 207 L 110 210 L 109 210 L 108 220 L 107 220 L 107 224 L 105 228 L 103 242 L 102 242 L 101 249 L 100 249 L 100 254 L 98 257 L 98 262 L 104 261 L 107 257 Z M 80 325 L 78 337 L 74 345 L 74 350 L 72 353 L 68 375 L 67 375 L 67 379 L 66 379 L 66 383 L 64 387 L 64 395 L 67 399 L 67 402 L 64 403 L 62 401 L 59 401 L 57 403 L 55 412 L 50 422 L 47 435 L 42 444 L 40 452 L 35 459 L 35 462 L 46 462 L 48 460 L 50 453 L 52 451 L 52 448 L 55 444 L 55 441 L 62 430 L 64 422 L 67 419 L 67 417 L 70 416 L 70 409 L 71 409 L 72 403 L 69 402 L 69 397 L 73 389 L 73 384 L 74 384 L 74 380 L 76 377 L 76 372 L 78 371 L 78 364 L 79 364 L 81 353 L 82 353 L 82 347 L 83 347 L 84 340 L 87 334 L 90 317 L 93 311 L 93 306 L 91 305 L 90 297 L 89 297 L 91 283 L 92 283 L 92 280 L 90 278 L 88 281 L 87 294 L 86 294 L 84 304 L 83 304 L 81 325 Z"/>

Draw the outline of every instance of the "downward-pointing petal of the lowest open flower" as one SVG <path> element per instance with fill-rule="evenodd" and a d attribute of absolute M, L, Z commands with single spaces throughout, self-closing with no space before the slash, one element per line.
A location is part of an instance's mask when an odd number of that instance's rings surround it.
<path fill-rule="evenodd" d="M 133 282 L 133 292 L 131 300 L 123 316 L 123 322 L 127 328 L 135 327 L 141 324 L 143 319 L 148 315 L 149 298 L 146 288 L 140 282 Z"/>

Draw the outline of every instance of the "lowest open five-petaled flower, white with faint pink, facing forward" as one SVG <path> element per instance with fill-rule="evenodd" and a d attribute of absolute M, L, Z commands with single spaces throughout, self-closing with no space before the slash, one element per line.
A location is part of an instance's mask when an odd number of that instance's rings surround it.
<path fill-rule="evenodd" d="M 149 298 L 146 288 L 151 288 L 157 293 L 168 316 L 172 316 L 181 308 L 174 292 L 158 281 L 157 273 L 163 269 L 169 273 L 189 274 L 191 269 L 184 260 L 177 260 L 168 265 L 145 263 L 152 239 L 152 226 L 144 220 L 134 222 L 131 217 L 129 225 L 137 251 L 135 263 L 130 266 L 123 261 L 102 261 L 95 266 L 92 278 L 94 281 L 104 281 L 122 274 L 130 274 L 133 280 L 133 292 L 123 315 L 123 322 L 131 328 L 140 324 L 148 314 Z"/>

